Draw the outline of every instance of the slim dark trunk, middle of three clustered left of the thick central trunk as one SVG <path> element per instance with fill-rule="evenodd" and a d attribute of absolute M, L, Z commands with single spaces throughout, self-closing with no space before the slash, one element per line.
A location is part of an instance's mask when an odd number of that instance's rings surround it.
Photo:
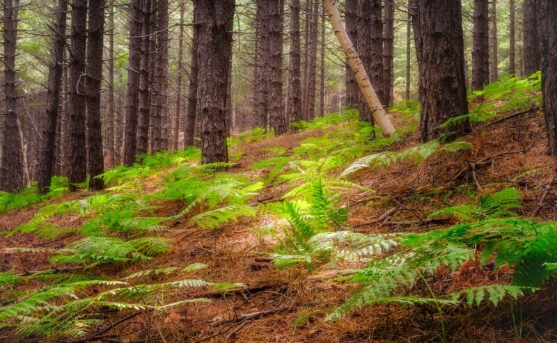
<path fill-rule="evenodd" d="M 137 123 L 136 154 L 146 154 L 149 147 L 150 124 L 150 70 L 151 70 L 151 16 L 152 3 L 150 0 L 141 1 L 143 25 L 141 26 L 141 63 L 139 67 L 139 118 Z"/>

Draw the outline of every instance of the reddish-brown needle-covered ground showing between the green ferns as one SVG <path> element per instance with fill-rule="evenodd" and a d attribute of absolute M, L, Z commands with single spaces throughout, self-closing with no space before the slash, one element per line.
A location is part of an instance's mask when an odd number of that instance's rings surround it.
<path fill-rule="evenodd" d="M 524 194 L 518 209 L 521 217 L 539 216 L 543 221 L 556 221 L 557 193 L 545 192 L 555 177 L 557 163 L 547 157 L 547 140 L 542 113 L 524 115 L 501 113 L 498 120 L 474 125 L 473 132 L 463 138 L 473 149 L 457 154 L 437 154 L 420 163 L 401 161 L 384 168 L 359 170 L 351 180 L 373 189 L 375 193 L 356 190 L 343 194 L 343 206 L 349 209 L 346 226 L 362 233 L 424 232 L 444 228 L 448 219 L 429 219 L 427 214 L 446 205 L 460 205 L 470 198 L 515 186 Z M 405 118 L 391 113 L 395 124 Z M 285 156 L 307 138 L 320 138 L 331 131 L 350 129 L 350 123 L 322 129 L 301 131 L 242 143 L 231 152 L 242 152 L 230 173 L 250 179 L 265 178 L 268 170 L 253 170 L 256 161 L 269 157 L 269 148 L 283 147 Z M 395 143 L 392 151 L 418 145 L 417 134 L 407 134 Z M 339 175 L 343 168 L 336 168 Z M 159 189 L 171 170 L 152 175 L 143 181 L 142 192 Z M 292 187 L 286 183 L 262 189 L 258 202 L 280 200 Z M 79 191 L 49 200 L 79 200 L 91 193 Z M 0 215 L 1 230 L 9 231 L 29 221 L 42 205 L 33 205 Z M 168 217 L 183 209 L 181 202 L 165 202 L 157 216 Z M 51 221 L 63 228 L 77 228 L 84 216 L 54 216 Z M 210 302 L 187 303 L 164 312 L 149 310 L 108 314 L 106 323 L 93 326 L 85 338 L 60 338 L 58 342 L 440 342 L 441 321 L 437 312 L 423 306 L 370 305 L 347 314 L 337 321 L 326 321 L 327 313 L 341 305 L 354 287 L 338 280 L 331 269 L 308 272 L 294 267 L 277 269 L 265 253 L 276 246 L 276 239 L 264 237 L 253 228 L 269 222 L 268 216 L 240 218 L 217 229 L 205 230 L 187 218 L 164 223 L 168 230 L 159 233 L 171 241 L 167 253 L 147 262 L 94 266 L 88 273 L 113 280 L 130 273 L 168 266 L 207 264 L 196 272 L 203 280 L 241 282 L 244 288 L 226 294 L 197 289 L 187 291 L 187 298 L 207 297 Z M 79 238 L 63 234 L 54 239 L 41 239 L 36 234 L 0 236 L 0 248 L 63 248 Z M 479 252 L 478 252 L 479 254 Z M 0 253 L 0 271 L 16 269 L 31 272 L 52 268 L 49 253 L 22 253 L 4 250 Z M 347 267 L 350 265 L 344 265 Z M 340 266 L 332 270 L 340 270 Z M 492 265 L 464 264 L 457 271 L 441 269 L 430 286 L 435 292 L 452 292 L 463 287 L 494 285 L 510 280 L 511 269 L 494 270 Z M 170 275 L 151 276 L 151 282 L 173 280 Z M 93 291 L 94 292 L 94 291 Z M 177 299 L 183 298 L 178 294 Z M 458 305 L 446 311 L 443 318 L 448 342 L 557 342 L 557 291 L 547 287 L 543 292 L 521 298 L 514 303 L 481 305 L 470 309 Z M 514 309 L 512 305 L 514 304 Z M 517 310 L 519 309 L 519 310 Z M 518 317 L 519 316 L 519 317 Z M 518 324 L 517 324 L 518 323 Z M 6 342 L 16 342 L 10 330 L 0 331 Z M 42 341 L 29 337 L 24 342 Z"/>

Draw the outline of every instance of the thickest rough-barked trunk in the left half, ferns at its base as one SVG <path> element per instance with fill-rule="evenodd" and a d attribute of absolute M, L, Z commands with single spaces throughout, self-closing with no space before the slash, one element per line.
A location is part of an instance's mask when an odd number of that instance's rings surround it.
<path fill-rule="evenodd" d="M 199 107 L 201 115 L 202 163 L 228 162 L 226 146 L 226 84 L 228 51 L 232 40 L 228 28 L 233 20 L 235 0 L 194 0 L 199 26 Z"/>

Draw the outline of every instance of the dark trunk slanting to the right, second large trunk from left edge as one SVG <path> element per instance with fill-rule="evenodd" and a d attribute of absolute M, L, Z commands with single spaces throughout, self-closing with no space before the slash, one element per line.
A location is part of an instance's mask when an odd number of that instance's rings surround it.
<path fill-rule="evenodd" d="M 38 162 L 37 186 L 39 193 L 45 194 L 50 186 L 54 170 L 54 149 L 56 146 L 56 123 L 58 122 L 58 103 L 64 64 L 65 22 L 68 2 L 58 0 L 56 8 L 56 22 L 54 22 L 54 44 L 50 56 L 48 72 L 47 108 L 45 113 L 46 125 L 42 131 L 42 147 Z"/>

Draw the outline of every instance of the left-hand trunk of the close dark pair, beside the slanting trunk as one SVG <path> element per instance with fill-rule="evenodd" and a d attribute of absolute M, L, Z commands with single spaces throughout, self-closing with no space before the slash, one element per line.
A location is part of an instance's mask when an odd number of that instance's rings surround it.
<path fill-rule="evenodd" d="M 87 0 L 72 4 L 72 45 L 70 49 L 70 146 L 68 147 L 68 179 L 70 191 L 87 177 L 85 54 L 87 42 Z"/>

